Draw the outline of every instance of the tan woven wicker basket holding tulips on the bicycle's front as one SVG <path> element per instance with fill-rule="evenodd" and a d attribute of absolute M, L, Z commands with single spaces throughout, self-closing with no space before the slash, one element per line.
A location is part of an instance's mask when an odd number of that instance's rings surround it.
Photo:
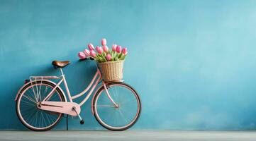
<path fill-rule="evenodd" d="M 106 82 L 123 79 L 123 62 L 124 60 L 98 63 L 102 78 Z"/>

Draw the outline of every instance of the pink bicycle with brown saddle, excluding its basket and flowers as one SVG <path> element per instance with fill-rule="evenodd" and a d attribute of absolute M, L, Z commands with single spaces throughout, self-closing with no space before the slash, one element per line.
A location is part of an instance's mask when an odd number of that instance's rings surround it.
<path fill-rule="evenodd" d="M 96 120 L 108 130 L 126 130 L 138 120 L 140 116 L 140 97 L 137 92 L 122 80 L 104 82 L 101 78 L 101 71 L 97 68 L 94 78 L 88 87 L 81 93 L 72 96 L 65 79 L 62 68 L 67 66 L 69 61 L 52 61 L 55 68 L 60 69 L 58 76 L 30 76 L 25 85 L 16 94 L 16 113 L 23 125 L 30 130 L 45 131 L 52 129 L 61 120 L 64 114 L 78 116 L 83 124 L 80 114 L 82 106 L 97 85 L 91 99 L 91 112 Z M 52 82 L 51 79 L 60 79 L 59 82 Z M 60 87 L 64 82 L 65 92 Z M 73 99 L 87 93 L 81 103 L 73 102 Z M 67 99 L 69 101 L 67 101 Z"/>

